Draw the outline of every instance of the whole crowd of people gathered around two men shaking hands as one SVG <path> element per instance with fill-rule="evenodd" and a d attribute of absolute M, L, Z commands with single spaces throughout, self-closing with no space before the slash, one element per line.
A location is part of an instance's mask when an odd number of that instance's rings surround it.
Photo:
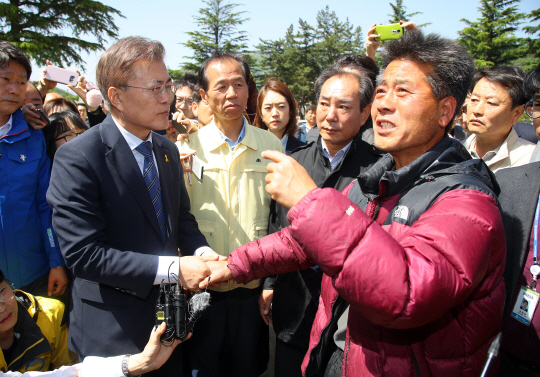
<path fill-rule="evenodd" d="M 264 376 L 272 324 L 276 377 L 540 376 L 540 64 L 375 26 L 303 108 L 142 37 L 74 103 L 0 41 L 0 375 Z M 171 279 L 210 295 L 183 343 Z"/>

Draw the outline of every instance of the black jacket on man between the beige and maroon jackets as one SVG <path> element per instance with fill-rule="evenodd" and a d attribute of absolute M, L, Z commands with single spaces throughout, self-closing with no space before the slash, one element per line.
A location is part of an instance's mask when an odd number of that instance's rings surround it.
<path fill-rule="evenodd" d="M 371 122 L 368 121 L 334 170 L 323 154 L 320 136 L 316 142 L 296 149 L 291 157 L 307 170 L 317 187 L 332 187 L 341 191 L 384 153 L 363 140 L 366 136 L 369 139 L 372 134 Z M 272 201 L 268 234 L 288 225 L 287 210 Z M 273 326 L 276 336 L 282 341 L 307 349 L 309 332 L 317 312 L 321 279 L 322 272 L 312 268 L 266 278 L 264 289 L 274 289 Z"/>

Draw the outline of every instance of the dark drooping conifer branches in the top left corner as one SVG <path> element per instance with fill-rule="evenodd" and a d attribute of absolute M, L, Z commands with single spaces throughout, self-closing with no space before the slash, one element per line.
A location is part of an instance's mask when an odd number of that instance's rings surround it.
<path fill-rule="evenodd" d="M 117 38 L 119 10 L 93 0 L 10 0 L 0 3 L 0 39 L 14 43 L 37 64 L 84 62 L 81 51 L 103 50 Z M 64 33 L 69 33 L 69 36 Z M 97 42 L 86 39 L 93 36 Z"/>

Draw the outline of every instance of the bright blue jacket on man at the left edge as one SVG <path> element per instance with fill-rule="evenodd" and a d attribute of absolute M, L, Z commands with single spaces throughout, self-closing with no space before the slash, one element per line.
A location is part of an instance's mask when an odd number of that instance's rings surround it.
<path fill-rule="evenodd" d="M 0 138 L 0 268 L 16 287 L 64 266 L 45 194 L 51 163 L 43 133 L 28 127 L 21 110 Z"/>

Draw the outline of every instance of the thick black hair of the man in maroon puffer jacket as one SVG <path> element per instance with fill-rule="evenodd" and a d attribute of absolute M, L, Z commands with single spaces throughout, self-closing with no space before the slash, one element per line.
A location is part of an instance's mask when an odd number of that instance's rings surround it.
<path fill-rule="evenodd" d="M 474 61 L 467 50 L 452 39 L 438 34 L 424 35 L 422 32 L 406 33 L 382 49 L 382 79 L 384 69 L 394 60 L 406 60 L 431 67 L 427 80 L 437 100 L 445 97 L 456 99 L 454 117 L 461 112 L 461 105 L 467 98 L 467 92 L 474 76 Z M 453 119 L 446 127 L 450 130 Z"/>

